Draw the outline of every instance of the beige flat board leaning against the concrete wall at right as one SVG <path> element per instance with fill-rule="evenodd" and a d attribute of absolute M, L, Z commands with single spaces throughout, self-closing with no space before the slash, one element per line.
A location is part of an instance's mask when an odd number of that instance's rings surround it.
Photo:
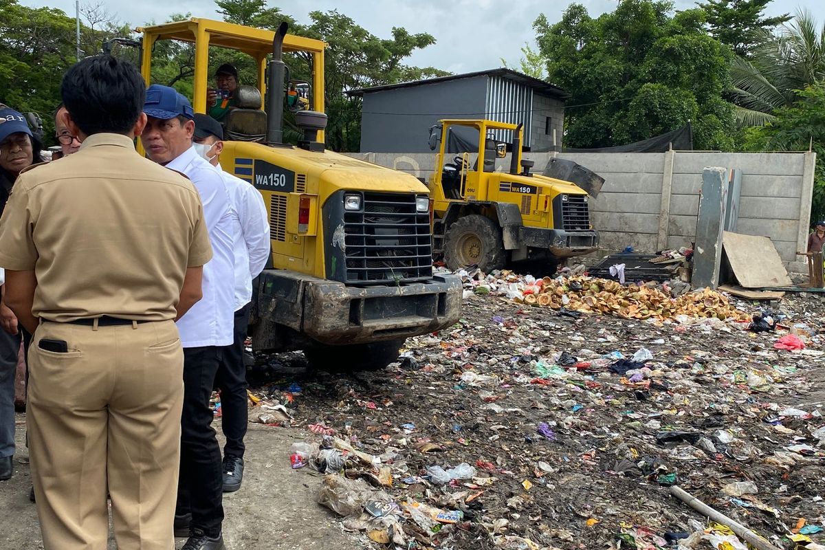
<path fill-rule="evenodd" d="M 722 248 L 740 286 L 746 289 L 793 286 L 769 237 L 725 231 Z"/>

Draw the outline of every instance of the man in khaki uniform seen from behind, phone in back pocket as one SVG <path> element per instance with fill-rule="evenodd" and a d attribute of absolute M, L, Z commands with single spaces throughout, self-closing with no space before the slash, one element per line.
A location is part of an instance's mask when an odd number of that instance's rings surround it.
<path fill-rule="evenodd" d="M 78 153 L 17 179 L 0 219 L 6 299 L 34 332 L 26 409 L 47 550 L 174 548 L 183 352 L 175 319 L 212 251 L 200 196 L 140 157 L 144 82 L 83 59 L 61 95 Z"/>

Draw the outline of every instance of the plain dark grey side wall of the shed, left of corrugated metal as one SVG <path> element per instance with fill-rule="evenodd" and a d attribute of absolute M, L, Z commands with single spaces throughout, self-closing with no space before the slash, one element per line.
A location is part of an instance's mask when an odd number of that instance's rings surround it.
<path fill-rule="evenodd" d="M 361 151 L 429 153 L 430 127 L 445 118 L 480 118 L 486 95 L 483 75 L 366 93 Z"/>

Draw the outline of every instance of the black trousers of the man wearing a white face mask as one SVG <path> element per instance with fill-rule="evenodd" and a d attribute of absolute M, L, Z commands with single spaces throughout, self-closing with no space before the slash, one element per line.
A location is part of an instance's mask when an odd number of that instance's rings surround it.
<path fill-rule="evenodd" d="M 226 444 L 224 456 L 243 458 L 243 436 L 247 435 L 247 368 L 243 364 L 243 341 L 247 339 L 249 306 L 235 312 L 235 334 L 232 346 L 224 347 L 224 360 L 214 379 L 220 390 L 220 409 Z"/>

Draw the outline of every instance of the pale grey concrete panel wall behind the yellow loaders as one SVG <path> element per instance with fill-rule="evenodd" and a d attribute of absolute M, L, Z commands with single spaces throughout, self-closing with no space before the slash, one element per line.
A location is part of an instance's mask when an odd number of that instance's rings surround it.
<path fill-rule="evenodd" d="M 429 179 L 436 156 L 351 153 L 382 166 Z M 553 153 L 525 153 L 542 172 Z M 702 171 L 742 170 L 737 233 L 771 237 L 789 270 L 807 273 L 813 164 L 816 153 L 559 153 L 605 178 L 592 202 L 592 222 L 603 251 L 634 247 L 660 251 L 690 246 L 696 234 Z M 472 162 L 472 161 L 471 161 Z M 499 159 L 498 169 L 509 166 Z"/>

